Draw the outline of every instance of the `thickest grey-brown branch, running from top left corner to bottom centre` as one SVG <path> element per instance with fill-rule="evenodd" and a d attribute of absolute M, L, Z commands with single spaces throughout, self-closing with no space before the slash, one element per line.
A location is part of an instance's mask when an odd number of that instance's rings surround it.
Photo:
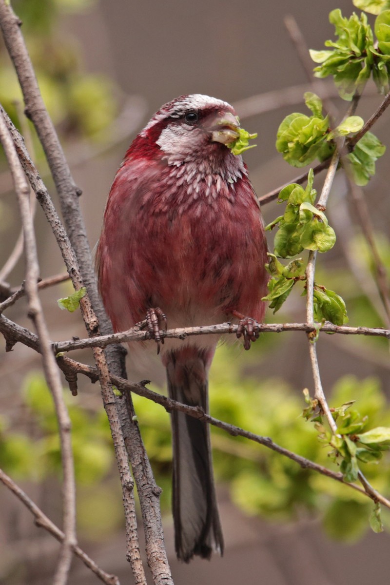
<path fill-rule="evenodd" d="M 65 257 L 67 259 L 65 260 L 65 263 L 71 278 L 73 281 L 76 280 L 78 283 L 78 285 L 75 286 L 75 289 L 78 290 L 78 288 L 80 288 L 80 281 L 85 283 L 87 286 L 88 295 L 82 298 L 80 306 L 89 335 L 94 335 L 98 332 L 97 318 L 99 319 L 102 332 L 109 333 L 112 331 L 111 324 L 109 323 L 109 320 L 105 314 L 96 288 L 95 274 L 91 261 L 87 232 L 85 230 L 84 222 L 82 221 L 80 205 L 78 202 L 78 196 L 81 194 L 81 192 L 77 189 L 77 187 L 75 187 L 73 178 L 71 177 L 70 169 L 68 167 L 67 161 L 65 160 L 63 150 L 61 149 L 58 137 L 56 135 L 56 131 L 54 130 L 53 123 L 51 122 L 44 106 L 42 96 L 40 95 L 39 87 L 34 75 L 32 63 L 25 46 L 23 36 L 20 32 L 19 25 L 19 19 L 16 18 L 8 2 L 5 2 L 5 0 L 0 0 L 0 26 L 4 35 L 5 44 L 19 78 L 20 87 L 22 88 L 23 98 L 26 104 L 27 115 L 32 120 L 36 128 L 44 152 L 46 153 L 54 183 L 56 184 L 65 225 L 67 226 L 67 230 L 70 236 L 69 239 L 77 254 L 75 263 L 72 264 L 68 262 L 69 258 L 66 254 L 66 250 L 64 249 L 64 246 L 62 246 L 65 240 L 57 238 L 57 243 L 60 246 L 61 253 L 63 253 L 64 260 Z M 15 133 L 14 136 L 17 137 L 18 133 Z M 22 144 L 20 150 L 20 156 L 22 158 L 23 148 L 24 145 Z M 24 157 L 24 163 L 26 164 L 26 167 L 29 167 L 29 169 L 26 170 L 27 177 L 30 178 L 32 175 L 34 175 L 35 178 L 36 176 L 39 177 L 36 173 L 36 169 L 28 157 L 28 154 L 27 157 Z M 30 171 L 30 176 L 28 171 Z M 56 210 L 54 209 L 53 204 L 47 195 L 46 189 L 44 191 L 35 192 L 38 195 L 40 204 L 42 207 L 44 207 L 45 213 L 49 211 L 49 215 L 46 213 L 46 216 L 54 231 L 59 220 L 56 214 Z M 45 206 L 43 206 L 43 201 Z M 68 244 L 69 239 L 67 238 L 66 234 L 65 237 L 67 242 L 66 247 L 71 248 L 70 244 Z M 80 271 L 78 270 L 79 263 L 81 269 Z M 89 299 L 91 299 L 92 302 L 90 302 Z M 122 450 L 122 446 L 125 446 L 125 449 L 129 453 L 130 460 L 132 462 L 134 478 L 137 482 L 137 491 L 140 497 L 141 511 L 146 534 L 147 559 L 153 580 L 157 585 L 160 583 L 169 585 L 172 583 L 172 577 L 164 547 L 161 512 L 159 508 L 159 488 L 156 485 L 153 472 L 151 470 L 149 461 L 147 460 L 146 451 L 141 440 L 139 429 L 132 422 L 133 406 L 131 404 L 131 398 L 126 398 L 126 404 L 124 404 L 123 401 L 118 401 L 115 403 L 115 397 L 113 396 L 112 388 L 111 386 L 107 385 L 108 364 L 106 362 L 105 355 L 102 350 L 98 348 L 94 350 L 94 354 L 96 364 L 101 368 L 101 388 L 106 412 L 109 417 L 113 417 L 113 419 L 109 418 L 109 422 L 113 435 L 113 443 L 116 455 L 118 456 L 118 449 Z M 126 375 L 124 362 L 122 359 L 122 349 L 119 347 L 109 348 L 107 355 L 110 371 L 123 373 Z M 115 407 L 112 407 L 113 404 L 115 404 Z M 117 424 L 118 421 L 116 419 L 119 420 L 119 424 Z M 116 436 L 114 437 L 114 435 Z M 125 442 L 123 442 L 123 439 Z M 117 462 L 121 477 L 123 461 L 124 457 L 118 456 Z M 131 483 L 130 471 L 128 470 L 127 473 L 129 475 L 129 481 L 124 481 L 122 483 L 124 501 L 129 501 L 130 496 L 133 500 L 133 493 L 128 489 L 128 486 Z M 132 503 L 132 507 L 134 508 L 134 501 Z M 133 526 L 134 522 L 135 511 L 130 515 L 129 518 L 126 518 L 128 538 L 130 538 L 130 535 L 132 535 L 132 538 L 136 537 L 136 529 L 133 530 L 130 528 L 130 525 Z M 139 545 L 133 542 L 132 550 L 133 548 L 136 549 L 137 546 Z M 129 550 L 127 557 L 129 558 L 130 556 L 131 552 Z M 141 574 L 143 573 L 143 567 L 141 566 L 139 553 L 137 553 L 137 555 L 132 558 L 132 569 L 137 583 L 143 583 L 144 574 Z"/>

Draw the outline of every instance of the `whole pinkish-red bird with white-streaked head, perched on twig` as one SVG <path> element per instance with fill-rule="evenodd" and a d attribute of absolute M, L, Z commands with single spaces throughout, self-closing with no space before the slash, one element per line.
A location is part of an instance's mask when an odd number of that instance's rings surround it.
<path fill-rule="evenodd" d="M 147 316 L 158 349 L 163 344 L 170 397 L 205 411 L 218 339 L 163 343 L 161 329 L 238 319 L 246 349 L 258 336 L 267 245 L 246 166 L 226 146 L 238 130 L 232 106 L 219 99 L 183 95 L 165 104 L 116 173 L 97 250 L 99 290 L 115 331 Z M 209 426 L 178 411 L 171 422 L 177 556 L 222 554 Z"/>

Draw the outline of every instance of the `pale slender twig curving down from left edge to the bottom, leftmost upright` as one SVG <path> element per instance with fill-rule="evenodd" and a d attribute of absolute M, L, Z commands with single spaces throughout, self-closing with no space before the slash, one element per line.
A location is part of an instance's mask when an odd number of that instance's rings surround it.
<path fill-rule="evenodd" d="M 36 326 L 39 336 L 39 344 L 42 349 L 42 362 L 47 385 L 53 395 L 56 417 L 58 420 L 58 432 L 61 444 L 61 459 L 63 466 L 63 527 L 64 540 L 61 546 L 54 585 L 65 585 L 70 571 L 72 550 L 76 545 L 76 501 L 73 450 L 71 445 L 71 421 L 65 405 L 60 374 L 56 360 L 53 359 L 49 332 L 43 316 L 42 305 L 39 300 L 37 281 L 39 277 L 39 264 L 37 260 L 36 240 L 34 235 L 33 219 L 30 213 L 30 187 L 26 181 L 22 166 L 11 135 L 9 134 L 4 117 L 0 114 L 0 140 L 4 148 L 13 182 L 15 184 L 16 197 L 19 203 L 20 218 L 22 219 L 23 241 L 26 257 L 26 281 L 25 289 L 29 300 L 29 316 Z"/>

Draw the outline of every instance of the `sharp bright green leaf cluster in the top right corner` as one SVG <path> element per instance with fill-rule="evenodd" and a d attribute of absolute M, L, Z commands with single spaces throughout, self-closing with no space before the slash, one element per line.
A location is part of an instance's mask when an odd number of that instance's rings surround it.
<path fill-rule="evenodd" d="M 388 3 L 360 0 L 356 5 L 378 14 L 385 4 Z M 390 72 L 390 11 L 381 12 L 375 20 L 378 47 L 367 15 L 363 12 L 360 17 L 353 13 L 348 19 L 343 17 L 340 9 L 336 9 L 330 12 L 329 20 L 335 27 L 338 39 L 336 42 L 325 42 L 326 47 L 332 47 L 331 50 L 310 50 L 313 61 L 320 64 L 314 69 L 316 77 L 333 75 L 334 83 L 343 99 L 352 99 L 371 74 L 378 91 L 387 92 Z"/>

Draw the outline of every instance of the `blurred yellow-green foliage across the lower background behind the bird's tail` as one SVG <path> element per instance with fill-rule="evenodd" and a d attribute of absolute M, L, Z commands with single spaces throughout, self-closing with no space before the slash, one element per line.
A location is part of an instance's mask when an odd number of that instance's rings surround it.
<path fill-rule="evenodd" d="M 222 346 L 216 353 L 210 377 L 210 411 L 213 416 L 263 436 L 272 436 L 276 443 L 298 455 L 337 470 L 343 457 L 340 453 L 335 455 L 334 447 L 329 456 L 323 439 L 316 440 L 319 422 L 315 428 L 305 421 L 305 417 L 299 416 L 302 411 L 301 398 L 278 378 L 265 379 L 259 386 L 257 379 L 243 376 L 237 352 L 236 347 Z M 257 360 L 258 356 L 253 352 L 253 365 Z M 240 387 L 240 400 L 237 400 L 237 387 Z M 77 398 L 71 398 L 68 393 L 65 396 L 73 425 L 76 477 L 81 484 L 78 489 L 78 522 L 89 537 L 94 534 L 96 522 L 103 522 L 105 530 L 110 532 L 120 522 L 120 511 L 116 505 L 120 502 L 118 486 L 106 488 L 105 484 L 100 484 L 93 502 L 90 488 L 87 490 L 88 486 L 94 484 L 96 487 L 96 483 L 105 480 L 113 464 L 106 415 L 103 411 L 92 414 L 78 403 Z M 308 393 L 306 400 L 310 402 L 306 418 L 310 419 L 313 418 L 313 409 Z M 354 400 L 360 414 L 354 414 L 350 408 Z M 381 460 L 380 466 L 373 466 L 361 456 L 363 450 L 383 455 L 385 442 L 388 441 L 388 431 L 380 429 L 390 424 L 390 408 L 378 382 L 374 378 L 358 380 L 345 377 L 334 387 L 332 402 L 343 405 L 334 409 L 335 417 L 337 414 L 337 424 L 343 437 L 357 446 L 359 466 L 371 483 L 376 484 L 375 487 L 386 491 L 390 481 L 387 458 Z M 41 376 L 32 374 L 26 379 L 23 403 L 30 414 L 29 432 L 33 435 L 16 433 L 3 423 L 0 465 L 12 476 L 22 478 L 43 479 L 53 473 L 60 474 L 57 421 L 49 390 Z M 159 405 L 144 398 L 134 396 L 134 404 L 157 483 L 163 487 L 162 504 L 168 510 L 171 498 L 169 416 Z M 326 437 L 328 445 L 330 438 Z M 346 540 L 357 538 L 367 530 L 370 512 L 371 525 L 379 528 L 379 512 L 372 512 L 370 502 L 345 486 L 302 470 L 298 464 L 278 453 L 246 439 L 227 435 L 220 429 L 212 428 L 212 443 L 216 449 L 216 476 L 230 486 L 233 500 L 249 514 L 261 515 L 272 521 L 285 521 L 293 520 L 306 509 L 322 515 L 328 534 Z M 348 449 L 351 449 L 350 446 Z M 345 446 L 340 446 L 340 450 L 345 455 L 350 453 Z M 17 455 L 9 457 L 11 452 Z M 102 500 L 108 505 L 107 513 L 99 512 Z"/>

